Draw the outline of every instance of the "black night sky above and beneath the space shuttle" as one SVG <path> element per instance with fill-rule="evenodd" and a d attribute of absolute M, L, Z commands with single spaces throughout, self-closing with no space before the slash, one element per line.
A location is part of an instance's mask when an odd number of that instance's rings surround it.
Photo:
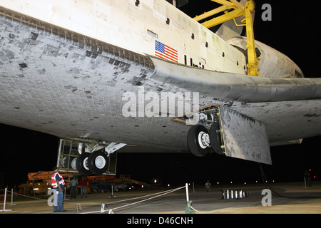
<path fill-rule="evenodd" d="M 181 7 L 190 16 L 203 14 L 217 4 L 210 0 L 189 0 Z M 295 2 L 295 3 L 293 3 Z M 305 77 L 320 77 L 320 1 L 255 1 L 255 39 L 285 53 L 302 69 Z M 263 21 L 263 4 L 272 6 L 272 21 Z M 300 128 L 300 123 L 297 123 Z M 49 171 L 56 164 L 58 138 L 31 130 L 0 125 L 1 185 L 19 185 L 28 172 Z M 185 140 L 185 139 L 182 139 Z M 271 147 L 273 165 L 263 165 L 269 181 L 303 181 L 303 171 L 312 169 L 321 179 L 321 136 L 307 138 L 300 145 Z M 189 153 L 119 153 L 117 174 L 129 174 L 133 180 L 150 182 L 162 178 L 163 185 L 195 182 L 262 182 L 260 166 L 222 155 L 194 157 Z M 1 186 L 3 187 L 3 186 Z"/>

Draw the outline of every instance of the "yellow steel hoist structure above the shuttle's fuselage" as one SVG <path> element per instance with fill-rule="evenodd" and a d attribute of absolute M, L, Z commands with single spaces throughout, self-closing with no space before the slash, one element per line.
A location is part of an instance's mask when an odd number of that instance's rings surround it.
<path fill-rule="evenodd" d="M 260 69 L 258 68 L 258 63 L 260 59 L 256 56 L 255 53 L 255 43 L 254 43 L 254 28 L 253 28 L 253 17 L 252 12 L 255 9 L 255 5 L 252 0 L 248 0 L 245 6 L 242 6 L 236 0 L 211 0 L 215 1 L 218 4 L 222 4 L 223 6 L 218 7 L 217 9 L 213 9 L 212 11 L 208 11 L 200 16 L 195 16 L 196 21 L 201 21 L 203 19 L 208 18 L 209 16 L 213 16 L 222 11 L 225 11 L 225 14 L 210 19 L 209 21 L 205 21 L 202 23 L 206 28 L 211 28 L 213 26 L 217 26 L 218 24 L 223 24 L 226 21 L 234 20 L 239 16 L 244 16 L 245 20 L 242 22 L 241 26 L 246 26 L 246 36 L 248 39 L 248 75 L 250 76 L 260 76 Z M 233 11 L 228 12 L 228 9 L 233 9 Z M 239 26 L 236 24 L 236 26 Z"/>

